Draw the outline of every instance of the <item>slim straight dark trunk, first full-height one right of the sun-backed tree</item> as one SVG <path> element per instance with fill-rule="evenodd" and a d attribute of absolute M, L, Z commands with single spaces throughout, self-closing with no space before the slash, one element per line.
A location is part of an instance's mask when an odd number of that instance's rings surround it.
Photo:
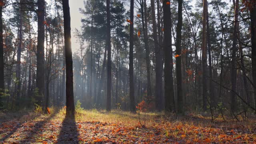
<path fill-rule="evenodd" d="M 106 47 L 108 50 L 107 62 L 107 107 L 106 110 L 111 110 L 111 35 L 110 35 L 110 0 L 107 0 L 107 37 Z"/>

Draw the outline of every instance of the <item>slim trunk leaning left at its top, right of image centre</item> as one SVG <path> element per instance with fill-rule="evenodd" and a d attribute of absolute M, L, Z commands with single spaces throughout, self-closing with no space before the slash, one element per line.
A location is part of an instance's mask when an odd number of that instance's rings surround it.
<path fill-rule="evenodd" d="M 144 12 L 145 11 L 145 12 Z M 148 14 L 146 0 L 141 2 L 141 16 L 142 16 L 142 28 L 144 36 L 144 45 L 146 51 L 146 67 L 147 67 L 147 99 L 148 102 L 152 101 L 152 91 L 151 91 L 151 79 L 150 79 L 150 50 L 148 47 Z M 145 20 L 145 21 L 144 21 Z"/>

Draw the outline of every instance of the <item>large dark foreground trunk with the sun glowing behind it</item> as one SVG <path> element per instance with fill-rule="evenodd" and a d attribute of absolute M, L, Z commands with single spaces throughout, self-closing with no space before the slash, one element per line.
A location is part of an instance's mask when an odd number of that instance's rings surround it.
<path fill-rule="evenodd" d="M 71 49 L 71 28 L 69 0 L 62 0 L 64 17 L 64 40 L 66 58 L 66 116 L 74 118 L 75 105 L 73 93 L 73 60 Z"/>

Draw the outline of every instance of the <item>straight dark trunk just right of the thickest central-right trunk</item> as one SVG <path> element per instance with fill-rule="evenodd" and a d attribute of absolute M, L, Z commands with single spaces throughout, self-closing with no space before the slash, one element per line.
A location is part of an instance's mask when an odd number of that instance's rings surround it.
<path fill-rule="evenodd" d="M 182 92 L 182 71 L 181 71 L 181 30 L 182 30 L 182 0 L 178 0 L 178 23 L 176 32 L 176 79 L 177 79 L 177 100 L 178 113 L 183 113 L 183 92 Z"/>

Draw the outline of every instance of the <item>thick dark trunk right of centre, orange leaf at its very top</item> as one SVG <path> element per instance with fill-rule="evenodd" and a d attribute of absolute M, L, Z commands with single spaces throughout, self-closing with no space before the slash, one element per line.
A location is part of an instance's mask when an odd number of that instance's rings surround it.
<path fill-rule="evenodd" d="M 171 10 L 170 1 L 163 3 L 164 13 L 164 98 L 165 110 L 174 110 L 174 89 L 172 78 L 172 42 L 171 42 Z"/>

